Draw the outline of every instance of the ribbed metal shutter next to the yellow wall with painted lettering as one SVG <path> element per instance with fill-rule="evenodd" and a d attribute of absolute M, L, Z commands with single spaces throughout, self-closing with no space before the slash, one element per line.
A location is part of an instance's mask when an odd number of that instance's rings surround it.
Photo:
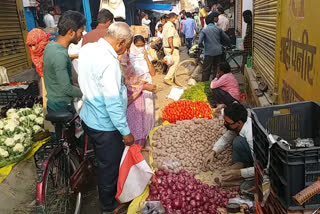
<path fill-rule="evenodd" d="M 268 84 L 275 87 L 275 50 L 278 0 L 253 1 L 253 69 Z"/>

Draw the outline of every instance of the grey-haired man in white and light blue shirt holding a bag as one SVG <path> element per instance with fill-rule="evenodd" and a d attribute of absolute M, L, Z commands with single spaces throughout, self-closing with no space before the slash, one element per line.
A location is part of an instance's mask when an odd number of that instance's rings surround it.
<path fill-rule="evenodd" d="M 103 213 L 113 213 L 119 205 L 115 195 L 121 157 L 125 145 L 134 143 L 127 123 L 127 88 L 118 61 L 130 47 L 132 37 L 129 25 L 115 22 L 104 38 L 86 44 L 79 54 L 83 93 L 80 117 L 94 143 Z"/>

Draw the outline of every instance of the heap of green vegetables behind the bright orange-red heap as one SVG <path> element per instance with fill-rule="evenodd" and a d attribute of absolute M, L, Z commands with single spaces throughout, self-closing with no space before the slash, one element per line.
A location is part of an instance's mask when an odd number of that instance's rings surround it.
<path fill-rule="evenodd" d="M 208 102 L 208 99 L 210 100 L 210 82 L 197 83 L 185 90 L 180 99 Z"/>

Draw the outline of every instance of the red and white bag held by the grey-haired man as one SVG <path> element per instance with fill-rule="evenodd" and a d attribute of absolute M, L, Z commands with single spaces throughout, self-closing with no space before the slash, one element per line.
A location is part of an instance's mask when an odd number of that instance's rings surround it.
<path fill-rule="evenodd" d="M 120 163 L 116 199 L 125 203 L 141 195 L 152 174 L 141 153 L 141 146 L 126 146 Z"/>

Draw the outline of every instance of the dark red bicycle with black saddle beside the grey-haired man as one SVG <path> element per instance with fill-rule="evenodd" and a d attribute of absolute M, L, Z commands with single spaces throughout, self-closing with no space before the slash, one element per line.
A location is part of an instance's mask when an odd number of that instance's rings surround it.
<path fill-rule="evenodd" d="M 38 168 L 36 213 L 79 214 L 82 193 L 95 176 L 93 150 L 84 135 L 83 151 L 74 139 L 75 121 L 69 112 L 49 113 L 46 120 L 56 130 L 51 140 L 35 154 Z"/>

